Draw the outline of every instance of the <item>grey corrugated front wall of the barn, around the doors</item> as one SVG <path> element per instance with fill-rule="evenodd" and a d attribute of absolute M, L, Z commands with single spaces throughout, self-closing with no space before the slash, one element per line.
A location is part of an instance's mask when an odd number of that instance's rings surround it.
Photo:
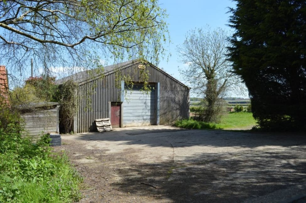
<path fill-rule="evenodd" d="M 145 69 L 139 69 L 138 65 L 130 65 L 79 86 L 76 133 L 95 131 L 95 119 L 110 117 L 109 102 L 121 102 L 121 80 L 143 82 L 147 79 L 146 75 L 149 83 L 160 83 L 160 125 L 189 117 L 189 88 L 152 65 L 147 65 Z"/>

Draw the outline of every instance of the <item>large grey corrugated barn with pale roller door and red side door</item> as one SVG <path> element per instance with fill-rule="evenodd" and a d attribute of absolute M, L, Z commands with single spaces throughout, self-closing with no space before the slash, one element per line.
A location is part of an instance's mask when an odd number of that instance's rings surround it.
<path fill-rule="evenodd" d="M 99 118 L 110 118 L 115 128 L 165 125 L 189 117 L 189 88 L 148 62 L 131 60 L 110 65 L 103 73 L 83 71 L 56 84 L 69 79 L 79 84 L 74 133 L 95 131 L 94 120 Z M 151 91 L 143 90 L 144 82 Z"/>

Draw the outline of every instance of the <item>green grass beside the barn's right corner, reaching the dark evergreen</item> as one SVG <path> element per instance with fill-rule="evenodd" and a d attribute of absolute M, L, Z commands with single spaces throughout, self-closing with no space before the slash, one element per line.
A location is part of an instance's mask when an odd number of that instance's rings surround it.
<path fill-rule="evenodd" d="M 256 120 L 250 112 L 232 112 L 223 116 L 220 123 L 206 123 L 185 119 L 175 122 L 175 126 L 188 129 L 250 129 L 256 125 Z"/>

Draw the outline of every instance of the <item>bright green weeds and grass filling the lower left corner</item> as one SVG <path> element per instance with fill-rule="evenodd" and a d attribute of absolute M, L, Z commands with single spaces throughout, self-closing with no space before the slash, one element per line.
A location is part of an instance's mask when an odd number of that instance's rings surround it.
<path fill-rule="evenodd" d="M 3 101 L 0 112 L 0 202 L 79 200 L 82 178 L 67 156 L 51 153 L 48 135 L 36 144 L 22 138 L 18 114 Z"/>

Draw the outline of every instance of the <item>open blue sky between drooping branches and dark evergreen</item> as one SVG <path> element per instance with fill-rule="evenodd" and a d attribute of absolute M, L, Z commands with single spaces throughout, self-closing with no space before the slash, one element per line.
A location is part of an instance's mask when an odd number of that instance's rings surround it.
<path fill-rule="evenodd" d="M 196 28 L 205 28 L 207 25 L 213 30 L 215 28 L 225 29 L 228 33 L 234 32 L 229 24 L 229 8 L 234 8 L 235 3 L 232 0 L 160 0 L 160 7 L 166 9 L 168 18 L 168 29 L 170 34 L 170 44 L 166 44 L 171 56 L 160 60 L 158 65 L 168 74 L 184 83 L 184 76 L 180 75 L 179 68 L 186 65 L 179 62 L 176 53 L 176 46 L 183 44 L 185 34 Z M 188 84 L 186 84 L 188 85 Z M 236 95 L 236 97 L 248 97 L 247 95 Z"/>

